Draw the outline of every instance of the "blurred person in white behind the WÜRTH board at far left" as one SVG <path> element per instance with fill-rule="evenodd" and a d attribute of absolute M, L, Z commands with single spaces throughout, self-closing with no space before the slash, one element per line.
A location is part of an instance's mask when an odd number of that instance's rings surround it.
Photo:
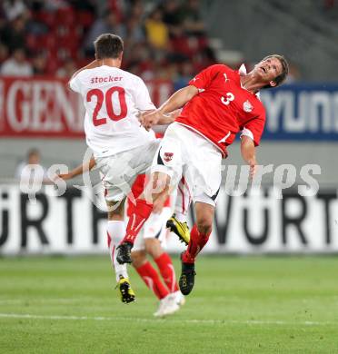
<path fill-rule="evenodd" d="M 40 166 L 41 169 L 36 169 L 36 165 Z M 26 160 L 17 165 L 15 178 L 21 181 L 29 181 L 31 178 L 34 178 L 35 181 L 46 181 L 45 167 L 41 165 L 41 155 L 37 149 L 29 150 Z"/>

